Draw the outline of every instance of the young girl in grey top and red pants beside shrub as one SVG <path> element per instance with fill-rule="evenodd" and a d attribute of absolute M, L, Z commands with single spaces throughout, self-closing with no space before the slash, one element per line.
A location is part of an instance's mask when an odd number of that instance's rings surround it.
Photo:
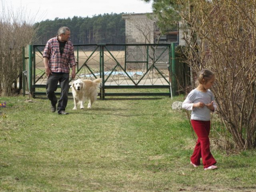
<path fill-rule="evenodd" d="M 194 153 L 190 158 L 190 164 L 198 167 L 202 158 L 204 170 L 216 169 L 218 167 L 215 165 L 216 161 L 210 152 L 209 140 L 210 112 L 214 112 L 217 108 L 213 93 L 209 90 L 215 81 L 215 75 L 212 71 L 203 69 L 200 71 L 197 81 L 197 88 L 187 95 L 182 104 L 183 109 L 192 110 L 191 124 L 198 137 Z"/>

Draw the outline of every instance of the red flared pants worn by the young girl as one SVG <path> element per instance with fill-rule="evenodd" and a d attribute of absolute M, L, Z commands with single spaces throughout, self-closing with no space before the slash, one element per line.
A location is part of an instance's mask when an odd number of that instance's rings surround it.
<path fill-rule="evenodd" d="M 211 121 L 191 120 L 191 124 L 198 137 L 194 152 L 190 158 L 191 162 L 200 165 L 200 159 L 202 158 L 204 168 L 216 164 L 216 161 L 210 152 L 209 133 L 211 129 Z"/>

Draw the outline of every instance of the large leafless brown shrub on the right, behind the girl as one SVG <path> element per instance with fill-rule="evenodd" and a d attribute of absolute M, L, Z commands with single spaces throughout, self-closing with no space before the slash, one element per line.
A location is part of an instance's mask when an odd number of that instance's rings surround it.
<path fill-rule="evenodd" d="M 236 149 L 256 147 L 256 0 L 180 0 L 193 71 L 216 71 L 218 113 Z"/>

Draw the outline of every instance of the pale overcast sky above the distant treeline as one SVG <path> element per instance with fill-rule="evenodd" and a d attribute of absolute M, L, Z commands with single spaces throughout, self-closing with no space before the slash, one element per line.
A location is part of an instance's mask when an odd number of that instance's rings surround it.
<path fill-rule="evenodd" d="M 78 17 L 92 17 L 104 13 L 152 12 L 152 3 L 141 0 L 0 0 L 0 7 L 25 9 L 35 21 Z M 2 4 L 2 5 L 1 5 Z M 1 10 L 1 9 L 0 9 Z"/>

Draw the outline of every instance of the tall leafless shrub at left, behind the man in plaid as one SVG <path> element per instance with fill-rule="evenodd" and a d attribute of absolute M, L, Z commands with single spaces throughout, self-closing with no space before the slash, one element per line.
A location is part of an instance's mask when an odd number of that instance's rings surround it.
<path fill-rule="evenodd" d="M 22 73 L 22 47 L 31 43 L 36 32 L 26 9 L 14 10 L 2 1 L 0 12 L 0 90 L 12 94 L 12 84 Z"/>

